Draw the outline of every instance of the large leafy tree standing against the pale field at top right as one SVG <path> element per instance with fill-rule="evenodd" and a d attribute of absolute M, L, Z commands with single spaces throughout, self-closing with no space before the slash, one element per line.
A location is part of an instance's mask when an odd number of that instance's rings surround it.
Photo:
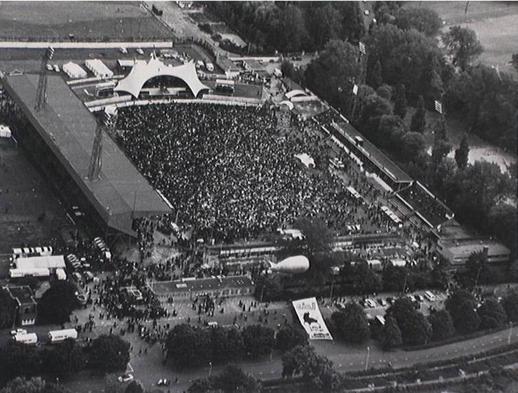
<path fill-rule="evenodd" d="M 477 33 L 467 27 L 450 27 L 448 32 L 442 34 L 442 42 L 453 56 L 453 64 L 462 71 L 484 52 Z"/>

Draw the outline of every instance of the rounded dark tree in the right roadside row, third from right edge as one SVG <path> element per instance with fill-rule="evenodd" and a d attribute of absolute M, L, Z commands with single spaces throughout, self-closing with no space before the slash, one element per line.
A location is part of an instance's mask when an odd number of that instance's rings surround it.
<path fill-rule="evenodd" d="M 460 334 L 473 333 L 480 326 L 475 297 L 464 289 L 453 292 L 444 303 L 453 319 L 453 326 Z"/>

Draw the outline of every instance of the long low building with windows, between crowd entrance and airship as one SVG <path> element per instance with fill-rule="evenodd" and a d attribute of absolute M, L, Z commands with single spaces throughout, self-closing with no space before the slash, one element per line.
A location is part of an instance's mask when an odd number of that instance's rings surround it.
<path fill-rule="evenodd" d="M 150 288 L 162 300 L 191 302 L 199 296 L 236 297 L 253 295 L 256 284 L 249 276 L 212 277 L 152 282 Z"/>

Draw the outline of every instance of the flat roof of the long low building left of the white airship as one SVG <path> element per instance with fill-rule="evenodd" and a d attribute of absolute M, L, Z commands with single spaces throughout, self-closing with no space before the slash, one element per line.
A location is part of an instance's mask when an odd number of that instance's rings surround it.
<path fill-rule="evenodd" d="M 162 281 L 153 283 L 155 293 L 213 291 L 214 289 L 251 287 L 254 282 L 249 276 L 221 278 L 198 278 L 196 280 Z"/>

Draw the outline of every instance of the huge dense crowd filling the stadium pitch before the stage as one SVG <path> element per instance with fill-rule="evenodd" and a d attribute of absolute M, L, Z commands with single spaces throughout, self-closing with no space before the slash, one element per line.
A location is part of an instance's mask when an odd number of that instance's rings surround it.
<path fill-rule="evenodd" d="M 337 232 L 354 219 L 345 185 L 294 157 L 308 153 L 323 164 L 325 149 L 313 138 L 287 136 L 264 106 L 131 106 L 117 120 L 117 142 L 177 210 L 166 224 L 216 242 L 254 238 L 300 217 L 322 218 Z"/>

